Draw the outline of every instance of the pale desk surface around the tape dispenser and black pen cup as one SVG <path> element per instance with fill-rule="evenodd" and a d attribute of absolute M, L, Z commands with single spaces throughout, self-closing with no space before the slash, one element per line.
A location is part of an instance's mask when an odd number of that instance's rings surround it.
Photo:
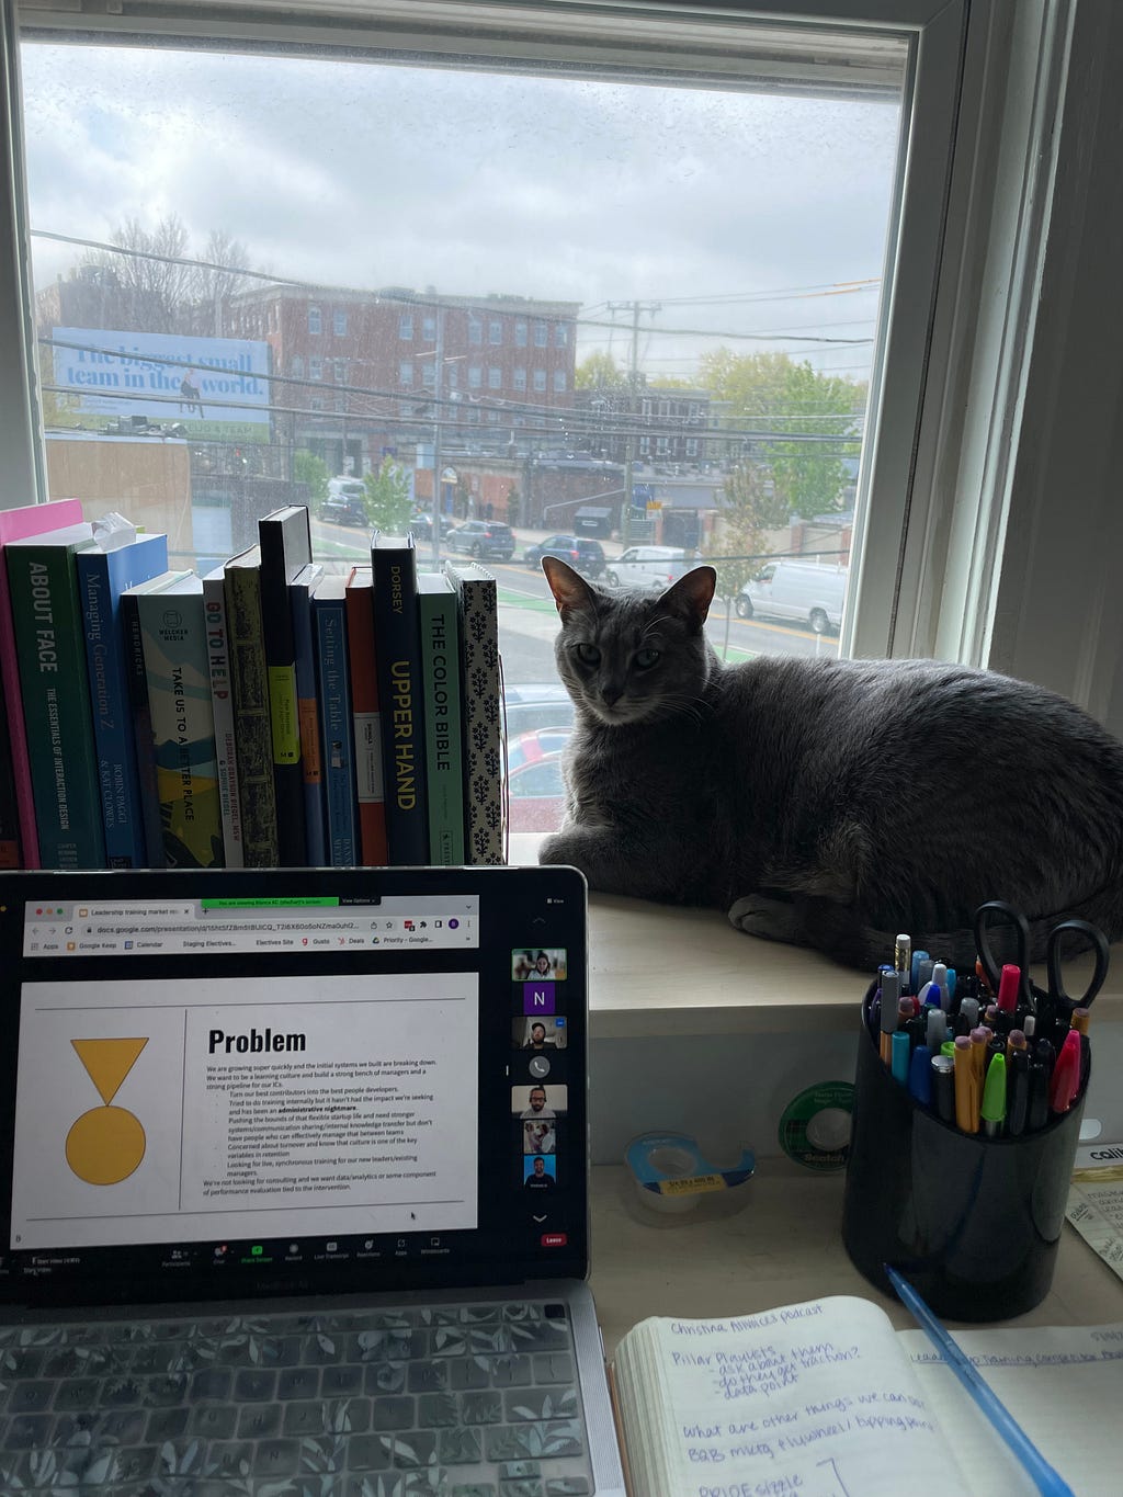
<path fill-rule="evenodd" d="M 873 1287 L 842 1243 L 843 1175 L 815 1175 L 789 1160 L 762 1160 L 746 1205 L 707 1217 L 654 1216 L 636 1199 L 623 1165 L 593 1169 L 591 1289 L 605 1353 L 650 1314 L 723 1317 L 824 1295 L 862 1295 L 898 1329 L 915 1322 Z M 713 1202 L 713 1205 L 710 1205 Z M 1065 1225 L 1048 1296 L 1011 1325 L 1101 1325 L 1123 1320 L 1123 1281 Z M 954 1325 L 954 1322 L 949 1322 Z"/>

